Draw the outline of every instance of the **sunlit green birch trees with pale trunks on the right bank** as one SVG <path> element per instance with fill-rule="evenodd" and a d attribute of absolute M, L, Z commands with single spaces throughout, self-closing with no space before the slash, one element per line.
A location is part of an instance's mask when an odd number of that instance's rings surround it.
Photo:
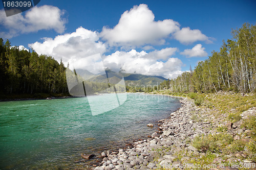
<path fill-rule="evenodd" d="M 223 41 L 220 52 L 213 51 L 194 70 L 170 80 L 168 89 L 172 92 L 255 92 L 256 26 L 245 23 L 231 33 L 233 38 Z"/>

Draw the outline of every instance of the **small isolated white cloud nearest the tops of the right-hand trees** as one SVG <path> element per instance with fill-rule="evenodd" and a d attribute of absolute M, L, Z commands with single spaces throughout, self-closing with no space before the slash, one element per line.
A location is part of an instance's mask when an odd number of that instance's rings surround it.
<path fill-rule="evenodd" d="M 205 48 L 202 47 L 202 44 L 197 44 L 192 49 L 186 49 L 183 52 L 181 52 L 180 54 L 186 56 L 187 58 L 206 57 L 208 54 L 204 50 L 205 50 Z"/>

